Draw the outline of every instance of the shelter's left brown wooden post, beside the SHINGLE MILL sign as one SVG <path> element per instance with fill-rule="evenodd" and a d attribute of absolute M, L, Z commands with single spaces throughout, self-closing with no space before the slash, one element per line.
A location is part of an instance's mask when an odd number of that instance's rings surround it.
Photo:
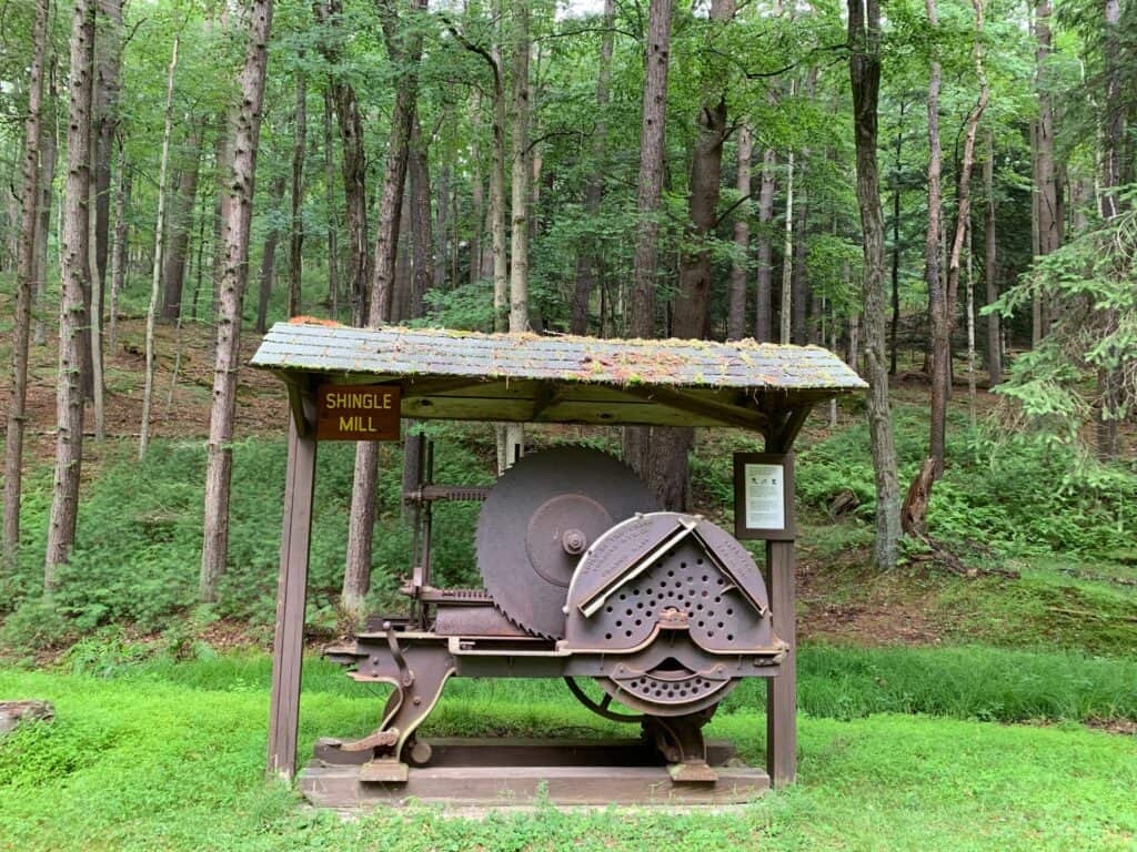
<path fill-rule="evenodd" d="M 304 610 L 308 592 L 308 544 L 312 499 L 316 483 L 315 400 L 310 390 L 289 387 L 288 473 L 284 484 L 284 529 L 276 586 L 276 635 L 273 641 L 273 687 L 268 711 L 269 776 L 292 780 L 300 717 L 300 667 L 304 661 Z"/>

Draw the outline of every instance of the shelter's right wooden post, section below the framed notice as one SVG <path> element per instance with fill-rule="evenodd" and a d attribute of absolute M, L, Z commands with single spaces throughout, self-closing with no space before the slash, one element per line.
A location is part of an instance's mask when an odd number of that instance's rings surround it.
<path fill-rule="evenodd" d="M 797 776 L 797 617 L 794 612 L 794 542 L 766 542 L 770 611 L 774 633 L 789 644 L 777 677 L 766 680 L 766 772 L 775 787 Z"/>

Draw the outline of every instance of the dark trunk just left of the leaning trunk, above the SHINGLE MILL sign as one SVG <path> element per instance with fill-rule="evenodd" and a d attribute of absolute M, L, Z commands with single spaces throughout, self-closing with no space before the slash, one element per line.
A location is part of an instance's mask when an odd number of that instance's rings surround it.
<path fill-rule="evenodd" d="M 331 64 L 340 61 L 339 39 L 345 37 L 342 0 L 315 2 L 313 9 L 322 26 L 334 31 L 337 41 L 323 42 L 322 52 Z M 364 151 L 363 119 L 355 87 L 333 73 L 332 100 L 343 147 L 343 206 L 347 209 L 348 229 L 348 293 L 351 299 L 351 324 L 364 325 L 370 311 L 367 290 L 371 282 L 367 251 L 367 160 Z"/>

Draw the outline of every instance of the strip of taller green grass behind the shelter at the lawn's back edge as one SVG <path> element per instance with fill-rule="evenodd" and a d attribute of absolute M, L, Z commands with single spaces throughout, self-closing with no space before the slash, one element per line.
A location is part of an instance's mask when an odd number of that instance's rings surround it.
<path fill-rule="evenodd" d="M 177 684 L 223 692 L 267 691 L 269 658 L 260 652 L 215 654 L 176 662 L 169 654 L 114 641 L 76 644 L 61 670 L 124 682 Z M 306 693 L 373 694 L 343 669 L 317 657 L 304 666 Z M 463 702 L 557 704 L 567 699 L 559 680 L 455 679 L 448 698 Z M 720 715 L 760 710 L 765 686 L 740 684 Z M 798 704 L 816 717 L 855 719 L 872 713 L 923 713 L 980 721 L 1086 721 L 1137 719 L 1137 660 L 979 645 L 956 648 L 852 648 L 810 644 L 798 657 Z"/>

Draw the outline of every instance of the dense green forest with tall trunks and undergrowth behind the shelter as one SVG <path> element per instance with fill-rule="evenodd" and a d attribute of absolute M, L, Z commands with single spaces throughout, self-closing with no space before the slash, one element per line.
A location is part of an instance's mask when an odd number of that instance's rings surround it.
<path fill-rule="evenodd" d="M 285 414 L 244 362 L 272 321 L 755 337 L 871 385 L 800 442 L 804 666 L 811 638 L 1107 661 L 1048 695 L 945 711 L 870 678 L 805 687 L 807 711 L 1132 720 L 1135 15 L 5 5 L 0 644 L 116 673 L 264 642 Z M 733 437 L 426 432 L 454 481 L 586 441 L 729 515 Z M 314 638 L 397 603 L 410 537 L 398 446 L 331 446 L 321 470 Z M 438 518 L 453 583 L 476 582 L 467 509 Z"/>

